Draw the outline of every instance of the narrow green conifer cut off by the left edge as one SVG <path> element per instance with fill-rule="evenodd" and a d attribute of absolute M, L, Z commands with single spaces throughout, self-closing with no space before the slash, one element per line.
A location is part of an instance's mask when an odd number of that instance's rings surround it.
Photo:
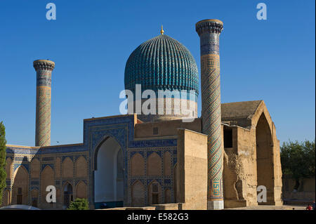
<path fill-rule="evenodd" d="M 6 187 L 6 129 L 3 122 L 0 122 L 0 204 Z"/>

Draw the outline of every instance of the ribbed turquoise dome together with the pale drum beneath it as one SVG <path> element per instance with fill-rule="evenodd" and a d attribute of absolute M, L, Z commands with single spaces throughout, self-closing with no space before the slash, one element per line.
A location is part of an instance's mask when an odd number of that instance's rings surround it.
<path fill-rule="evenodd" d="M 192 105 L 195 105 L 196 111 L 193 106 L 190 106 L 193 107 L 193 110 L 189 109 L 187 112 L 190 111 L 190 114 L 196 114 L 191 115 L 192 117 L 197 117 L 196 103 L 199 95 L 199 72 L 195 58 L 183 44 L 165 34 L 145 41 L 131 53 L 126 62 L 124 84 L 126 90 L 132 91 L 134 103 L 138 98 L 136 84 L 141 87 L 140 93 L 145 90 L 152 90 L 156 94 L 157 102 L 151 105 L 155 108 L 150 114 L 142 113 L 135 106 L 133 107 L 133 112 L 141 114 L 139 119 L 142 121 L 188 117 L 186 115 L 188 113 L 183 110 L 178 111 L 175 108 L 181 105 L 187 108 L 190 103 L 189 100 L 192 101 Z M 166 91 L 166 94 L 159 95 L 159 90 Z M 179 93 L 180 91 L 182 93 Z M 150 96 L 150 98 L 152 97 Z M 167 98 L 172 101 L 169 106 L 164 105 Z M 141 100 L 142 105 L 145 100 L 147 100 L 147 95 L 146 99 Z M 164 111 L 164 108 L 168 111 Z M 131 107 L 129 110 L 131 114 Z"/>

